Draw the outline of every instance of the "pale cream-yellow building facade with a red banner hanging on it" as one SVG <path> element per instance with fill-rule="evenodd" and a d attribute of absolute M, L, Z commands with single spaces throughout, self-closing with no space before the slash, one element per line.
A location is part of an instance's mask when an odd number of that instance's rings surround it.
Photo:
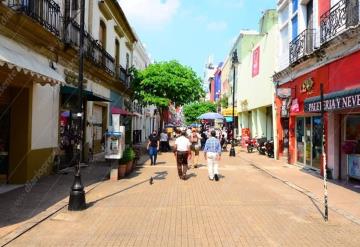
<path fill-rule="evenodd" d="M 277 12 L 267 10 L 260 19 L 256 38 L 248 43 L 237 72 L 238 128 L 251 137 L 274 137 L 273 93 L 271 76 L 276 70 L 274 61 L 278 40 Z M 247 35 L 244 34 L 246 37 Z"/>

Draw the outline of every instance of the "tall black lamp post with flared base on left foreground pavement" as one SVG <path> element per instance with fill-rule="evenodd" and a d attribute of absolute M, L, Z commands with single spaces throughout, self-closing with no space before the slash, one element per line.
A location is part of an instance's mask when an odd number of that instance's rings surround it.
<path fill-rule="evenodd" d="M 78 82 L 78 113 L 77 113 L 77 131 L 75 135 L 75 175 L 74 183 L 71 186 L 70 197 L 69 197 L 69 206 L 70 211 L 79 211 L 86 208 L 85 201 L 85 191 L 84 186 L 81 182 L 80 174 L 80 162 L 82 155 L 82 138 L 83 138 L 83 81 L 84 81 L 84 14 L 85 14 L 85 0 L 80 1 L 80 44 L 79 44 L 79 82 Z"/>

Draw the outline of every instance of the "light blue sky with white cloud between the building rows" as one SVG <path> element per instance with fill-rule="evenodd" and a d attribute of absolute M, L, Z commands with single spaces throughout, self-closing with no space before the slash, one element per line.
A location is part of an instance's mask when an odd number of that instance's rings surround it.
<path fill-rule="evenodd" d="M 223 61 L 242 29 L 258 30 L 276 0 L 119 0 L 154 61 L 176 59 L 200 77 L 209 55 Z"/>

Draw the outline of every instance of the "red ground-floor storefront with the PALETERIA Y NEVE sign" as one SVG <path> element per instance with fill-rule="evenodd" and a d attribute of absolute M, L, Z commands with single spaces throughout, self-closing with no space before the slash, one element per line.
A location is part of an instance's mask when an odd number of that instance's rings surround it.
<path fill-rule="evenodd" d="M 278 86 L 288 92 L 275 99 L 279 156 L 287 156 L 291 164 L 322 170 L 320 84 L 327 167 L 334 178 L 360 179 L 359 51 Z"/>

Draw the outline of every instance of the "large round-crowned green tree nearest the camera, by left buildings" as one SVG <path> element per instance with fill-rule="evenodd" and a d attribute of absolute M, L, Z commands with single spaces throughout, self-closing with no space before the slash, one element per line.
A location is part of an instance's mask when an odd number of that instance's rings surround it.
<path fill-rule="evenodd" d="M 156 105 L 161 116 L 171 102 L 184 105 L 204 96 L 201 79 L 188 66 L 175 60 L 149 65 L 142 71 L 132 69 L 133 99 L 143 105 Z"/>

